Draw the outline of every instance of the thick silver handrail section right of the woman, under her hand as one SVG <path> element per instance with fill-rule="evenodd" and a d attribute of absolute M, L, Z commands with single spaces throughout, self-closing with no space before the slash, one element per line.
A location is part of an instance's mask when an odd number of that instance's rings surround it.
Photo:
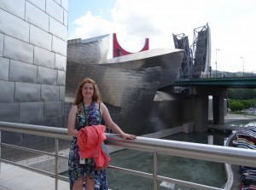
<path fill-rule="evenodd" d="M 256 151 L 237 147 L 223 147 L 185 141 L 171 141 L 137 137 L 135 141 L 124 141 L 118 135 L 107 134 L 108 145 L 164 153 L 184 158 L 195 158 L 224 164 L 255 167 Z"/>

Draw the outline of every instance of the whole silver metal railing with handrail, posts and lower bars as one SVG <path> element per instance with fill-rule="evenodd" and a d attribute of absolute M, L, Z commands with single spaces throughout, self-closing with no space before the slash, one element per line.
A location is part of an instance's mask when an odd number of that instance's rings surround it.
<path fill-rule="evenodd" d="M 47 152 L 26 148 L 26 147 L 17 147 L 14 145 L 3 143 L 1 141 L 1 130 L 55 138 L 55 153 L 47 153 Z M 125 147 L 129 149 L 136 149 L 144 152 L 153 153 L 154 161 L 153 161 L 152 174 L 138 171 L 138 170 L 128 170 L 125 168 L 120 168 L 120 167 L 111 166 L 111 165 L 109 166 L 109 169 L 118 170 L 131 175 L 143 176 L 143 177 L 152 179 L 154 183 L 154 187 L 153 187 L 154 190 L 157 190 L 157 181 L 169 181 L 185 187 L 194 187 L 197 189 L 212 189 L 212 190 L 224 189 L 224 188 L 218 188 L 218 187 L 209 187 L 206 185 L 197 184 L 189 181 L 181 181 L 181 180 L 169 178 L 166 176 L 159 176 L 157 172 L 157 156 L 158 156 L 157 154 L 158 153 L 184 157 L 184 158 L 208 160 L 208 161 L 225 163 L 225 164 L 247 165 L 252 167 L 256 166 L 256 162 L 255 162 L 256 152 L 254 150 L 242 149 L 242 148 L 236 148 L 236 147 L 205 145 L 205 144 L 190 143 L 190 142 L 183 142 L 183 141 L 169 141 L 169 140 L 153 139 L 153 138 L 146 138 L 146 137 L 137 137 L 135 141 L 124 141 L 119 137 L 119 135 L 106 134 L 106 136 L 107 136 L 108 145 L 112 145 L 116 147 Z M 7 164 L 14 164 L 26 170 L 32 170 L 46 176 L 55 177 L 55 190 L 57 190 L 58 180 L 68 181 L 68 178 L 66 176 L 59 175 L 57 170 L 58 158 L 67 158 L 65 156 L 61 156 L 58 153 L 59 152 L 58 141 L 60 139 L 71 140 L 71 137 L 67 135 L 67 129 L 38 126 L 38 125 L 31 125 L 31 124 L 15 124 L 15 123 L 0 122 L 0 142 L 1 142 L 0 148 L 11 147 L 19 150 L 32 152 L 32 153 L 40 153 L 40 154 L 54 156 L 55 157 L 55 173 L 47 172 L 44 170 L 38 170 L 22 164 L 17 164 L 15 162 L 1 158 L 1 154 L 0 154 L 0 161 Z"/>

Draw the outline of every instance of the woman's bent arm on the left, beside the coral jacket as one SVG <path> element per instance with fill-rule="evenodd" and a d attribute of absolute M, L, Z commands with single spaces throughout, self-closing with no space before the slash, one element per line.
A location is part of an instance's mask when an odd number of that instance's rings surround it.
<path fill-rule="evenodd" d="M 70 112 L 68 113 L 68 135 L 71 136 L 78 136 L 79 132 L 75 128 L 75 123 L 76 123 L 76 117 L 77 117 L 77 112 L 78 112 L 78 106 L 74 105 L 71 107 Z"/>

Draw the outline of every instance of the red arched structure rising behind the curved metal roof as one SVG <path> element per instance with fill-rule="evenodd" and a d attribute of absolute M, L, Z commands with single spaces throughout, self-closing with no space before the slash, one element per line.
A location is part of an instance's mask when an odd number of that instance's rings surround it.
<path fill-rule="evenodd" d="M 149 39 L 146 38 L 145 43 L 144 43 L 144 47 L 140 51 L 148 50 L 148 48 L 149 48 Z M 113 33 L 113 58 L 114 57 L 119 57 L 119 56 L 122 56 L 122 55 L 130 55 L 130 54 L 132 54 L 132 53 L 128 52 L 128 51 L 125 51 L 125 49 L 123 49 L 119 45 L 119 42 L 118 42 L 117 37 L 116 37 L 116 33 Z"/>

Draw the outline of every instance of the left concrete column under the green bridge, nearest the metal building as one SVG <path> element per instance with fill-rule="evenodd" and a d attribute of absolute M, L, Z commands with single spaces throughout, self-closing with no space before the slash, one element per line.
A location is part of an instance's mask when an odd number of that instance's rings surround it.
<path fill-rule="evenodd" d="M 208 95 L 195 95 L 195 132 L 207 131 Z"/>

